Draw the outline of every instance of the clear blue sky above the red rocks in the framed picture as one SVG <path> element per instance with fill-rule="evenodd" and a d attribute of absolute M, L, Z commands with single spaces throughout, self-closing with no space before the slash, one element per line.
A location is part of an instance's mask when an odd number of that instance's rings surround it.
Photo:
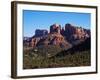
<path fill-rule="evenodd" d="M 36 29 L 49 31 L 50 25 L 54 23 L 60 24 L 62 27 L 66 23 L 71 23 L 90 29 L 90 20 L 90 13 L 23 10 L 24 37 L 33 36 Z"/>

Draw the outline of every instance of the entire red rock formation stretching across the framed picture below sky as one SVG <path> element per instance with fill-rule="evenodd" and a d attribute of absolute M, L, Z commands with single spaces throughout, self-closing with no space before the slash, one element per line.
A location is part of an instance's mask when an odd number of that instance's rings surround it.
<path fill-rule="evenodd" d="M 64 29 L 59 24 L 53 24 L 50 26 L 49 33 L 47 30 L 37 29 L 33 37 L 28 40 L 25 39 L 23 42 L 30 47 L 57 45 L 68 49 L 75 44 L 85 41 L 90 36 L 90 30 L 82 27 L 66 24 Z"/>

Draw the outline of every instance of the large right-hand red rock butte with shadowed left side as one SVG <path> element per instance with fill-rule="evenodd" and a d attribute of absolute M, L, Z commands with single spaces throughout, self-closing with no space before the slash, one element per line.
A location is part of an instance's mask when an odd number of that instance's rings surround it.
<path fill-rule="evenodd" d="M 71 24 L 65 25 L 65 31 L 63 35 L 71 43 L 77 43 L 84 41 L 90 37 L 90 30 L 84 29 L 82 27 L 73 26 Z"/>

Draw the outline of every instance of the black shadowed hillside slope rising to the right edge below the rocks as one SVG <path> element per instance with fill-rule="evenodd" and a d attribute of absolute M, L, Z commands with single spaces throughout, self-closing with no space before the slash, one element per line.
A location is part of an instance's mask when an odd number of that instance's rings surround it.
<path fill-rule="evenodd" d="M 84 42 L 81 42 L 78 45 L 75 45 L 68 50 L 61 51 L 55 56 L 56 57 L 59 57 L 59 56 L 64 57 L 64 56 L 68 55 L 69 53 L 74 54 L 75 52 L 88 51 L 88 50 L 90 50 L 90 47 L 91 47 L 91 38 L 87 38 Z"/>

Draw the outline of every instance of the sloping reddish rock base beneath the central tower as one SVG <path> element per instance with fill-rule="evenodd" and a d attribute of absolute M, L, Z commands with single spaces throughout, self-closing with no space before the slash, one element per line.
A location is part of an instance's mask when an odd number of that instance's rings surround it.
<path fill-rule="evenodd" d="M 71 47 L 71 44 L 68 43 L 67 40 L 64 39 L 64 37 L 59 34 L 59 33 L 52 33 L 52 34 L 48 34 L 47 37 L 41 39 L 37 46 L 40 45 L 57 45 L 60 46 L 61 48 L 67 48 L 67 47 Z"/>

